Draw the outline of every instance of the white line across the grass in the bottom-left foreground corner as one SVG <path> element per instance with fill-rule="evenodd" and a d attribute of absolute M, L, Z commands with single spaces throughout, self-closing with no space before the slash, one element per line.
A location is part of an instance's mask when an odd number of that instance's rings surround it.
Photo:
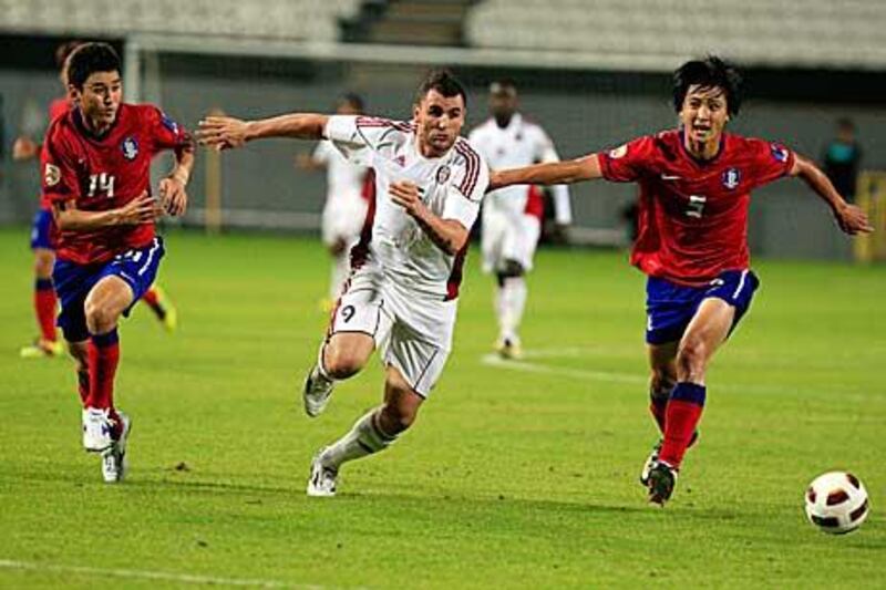
<path fill-rule="evenodd" d="M 63 566 L 58 563 L 41 563 L 37 561 L 16 561 L 0 559 L 0 569 L 24 570 L 51 573 L 76 573 L 96 578 L 125 578 L 131 580 L 156 580 L 179 584 L 203 586 L 231 586 L 248 588 L 295 588 L 303 590 L 323 590 L 328 587 L 317 584 L 293 584 L 277 580 L 256 580 L 245 578 L 219 578 L 215 576 L 197 576 L 192 573 L 174 573 L 166 571 L 131 570 L 114 568 L 91 568 L 86 566 Z"/>

